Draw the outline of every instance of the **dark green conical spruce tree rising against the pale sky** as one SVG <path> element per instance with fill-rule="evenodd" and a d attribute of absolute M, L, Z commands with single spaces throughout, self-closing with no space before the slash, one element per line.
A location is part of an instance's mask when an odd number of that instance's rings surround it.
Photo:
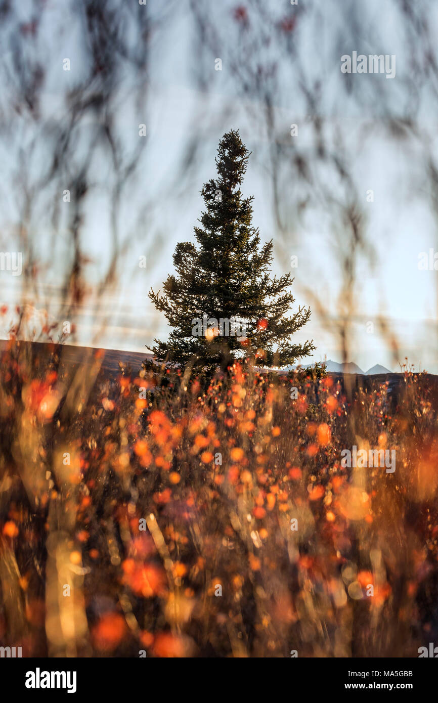
<path fill-rule="evenodd" d="M 243 357 L 257 366 L 286 366 L 315 349 L 312 342 L 293 344 L 290 339 L 307 323 L 310 310 L 300 308 L 288 316 L 294 302 L 288 291 L 293 278 L 290 273 L 271 276 L 272 240 L 260 246 L 259 231 L 252 226 L 254 196 L 243 198 L 240 191 L 249 156 L 238 131 L 224 135 L 216 158 L 217 178 L 201 191 L 205 212 L 202 226 L 195 227 L 198 247 L 177 244 L 176 275 L 163 283 L 163 295 L 150 290 L 150 299 L 173 328 L 168 342 L 154 340 L 152 352 L 158 361 L 210 371 Z M 218 329 L 215 321 L 221 319 L 225 322 Z M 246 338 L 232 334 L 232 322 L 231 334 L 226 335 L 230 320 L 246 324 Z"/>

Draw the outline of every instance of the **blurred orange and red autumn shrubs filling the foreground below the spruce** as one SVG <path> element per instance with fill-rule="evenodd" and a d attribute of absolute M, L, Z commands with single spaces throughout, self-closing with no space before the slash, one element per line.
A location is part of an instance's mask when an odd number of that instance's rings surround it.
<path fill-rule="evenodd" d="M 425 375 L 406 373 L 394 403 L 385 384 L 305 374 L 292 400 L 297 380 L 238 364 L 208 385 L 165 368 L 110 378 L 99 359 L 30 363 L 17 344 L 1 368 L 2 645 L 379 657 L 432 638 Z M 396 449 L 396 472 L 342 467 L 352 444 Z"/>

